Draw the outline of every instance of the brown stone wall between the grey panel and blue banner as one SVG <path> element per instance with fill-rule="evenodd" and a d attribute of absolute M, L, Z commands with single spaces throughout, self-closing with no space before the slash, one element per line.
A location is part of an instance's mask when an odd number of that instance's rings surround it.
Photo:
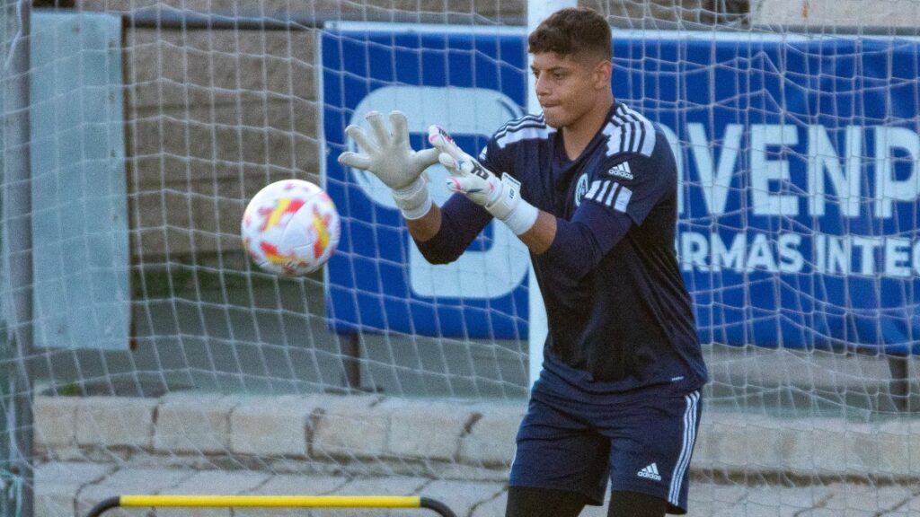
<path fill-rule="evenodd" d="M 135 253 L 236 251 L 261 187 L 318 180 L 315 52 L 312 30 L 128 31 Z"/>

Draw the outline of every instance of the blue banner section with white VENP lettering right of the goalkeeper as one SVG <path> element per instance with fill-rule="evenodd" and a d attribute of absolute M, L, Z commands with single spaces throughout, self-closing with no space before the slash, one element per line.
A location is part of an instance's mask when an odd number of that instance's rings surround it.
<path fill-rule="evenodd" d="M 682 163 L 703 342 L 920 351 L 917 40 L 615 37 Z"/>

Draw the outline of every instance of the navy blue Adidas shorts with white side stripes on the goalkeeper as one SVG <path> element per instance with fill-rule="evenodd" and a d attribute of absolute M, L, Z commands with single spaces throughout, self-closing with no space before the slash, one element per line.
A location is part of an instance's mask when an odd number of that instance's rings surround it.
<path fill-rule="evenodd" d="M 517 435 L 510 484 L 581 492 L 590 504 L 611 490 L 649 494 L 686 513 L 699 390 L 651 385 L 623 393 L 575 389 L 544 370 Z"/>

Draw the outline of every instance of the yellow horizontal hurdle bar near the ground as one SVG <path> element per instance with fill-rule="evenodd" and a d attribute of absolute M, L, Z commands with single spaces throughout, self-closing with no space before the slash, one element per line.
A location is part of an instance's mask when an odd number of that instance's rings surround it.
<path fill-rule="evenodd" d="M 416 496 L 144 496 L 125 495 L 120 506 L 187 508 L 421 508 Z"/>

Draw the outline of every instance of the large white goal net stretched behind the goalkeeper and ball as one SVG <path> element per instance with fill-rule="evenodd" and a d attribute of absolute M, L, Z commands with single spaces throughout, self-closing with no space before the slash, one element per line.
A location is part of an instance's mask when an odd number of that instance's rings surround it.
<path fill-rule="evenodd" d="M 911 514 L 914 3 L 580 5 L 608 17 L 615 96 L 682 174 L 675 250 L 711 375 L 691 514 Z M 527 251 L 493 223 L 431 266 L 336 157 L 370 109 L 406 113 L 416 148 L 431 123 L 483 147 L 529 110 L 527 21 L 514 0 L 6 1 L 7 508 L 424 493 L 500 515 L 546 332 Z M 342 217 L 302 278 L 239 236 L 283 178 Z"/>

